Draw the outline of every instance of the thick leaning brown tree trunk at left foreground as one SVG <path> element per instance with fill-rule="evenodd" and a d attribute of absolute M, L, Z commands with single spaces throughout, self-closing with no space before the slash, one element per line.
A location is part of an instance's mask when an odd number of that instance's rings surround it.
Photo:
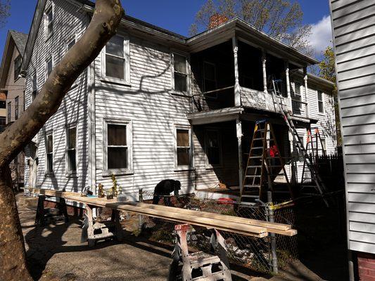
<path fill-rule="evenodd" d="M 23 115 L 0 134 L 0 280 L 32 280 L 12 190 L 9 163 L 58 110 L 65 94 L 99 55 L 120 25 L 120 0 L 96 0 L 94 16 L 75 46 L 54 67 L 42 90 Z"/>

